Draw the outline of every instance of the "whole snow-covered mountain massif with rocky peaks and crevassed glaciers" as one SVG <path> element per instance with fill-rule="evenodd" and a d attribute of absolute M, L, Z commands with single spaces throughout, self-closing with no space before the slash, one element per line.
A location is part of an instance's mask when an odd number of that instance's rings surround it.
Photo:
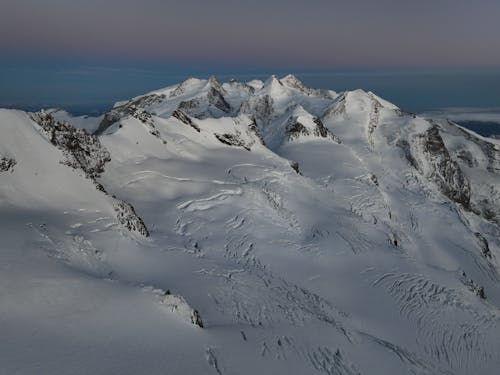
<path fill-rule="evenodd" d="M 499 150 L 293 76 L 0 110 L 0 373 L 497 374 Z"/>

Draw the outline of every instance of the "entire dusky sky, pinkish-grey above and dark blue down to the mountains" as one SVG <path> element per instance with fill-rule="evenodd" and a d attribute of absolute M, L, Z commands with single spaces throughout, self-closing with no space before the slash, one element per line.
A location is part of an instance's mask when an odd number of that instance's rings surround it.
<path fill-rule="evenodd" d="M 499 19 L 499 0 L 0 0 L 0 107 L 287 73 L 413 112 L 499 107 Z"/>

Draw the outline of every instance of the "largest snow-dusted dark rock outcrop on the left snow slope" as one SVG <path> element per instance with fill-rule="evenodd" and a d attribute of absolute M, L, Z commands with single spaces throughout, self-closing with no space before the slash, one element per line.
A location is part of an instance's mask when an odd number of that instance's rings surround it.
<path fill-rule="evenodd" d="M 99 138 L 83 129 L 57 121 L 43 111 L 34 113 L 32 119 L 42 127 L 50 143 L 63 152 L 63 164 L 82 170 L 87 178 L 94 181 L 104 172 L 104 165 L 111 157 Z"/>

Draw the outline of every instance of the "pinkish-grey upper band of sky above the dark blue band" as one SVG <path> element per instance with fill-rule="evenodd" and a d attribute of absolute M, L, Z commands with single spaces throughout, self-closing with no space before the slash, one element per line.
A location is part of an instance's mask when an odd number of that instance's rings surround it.
<path fill-rule="evenodd" d="M 500 66 L 500 1 L 2 0 L 2 55 L 280 67 Z"/>

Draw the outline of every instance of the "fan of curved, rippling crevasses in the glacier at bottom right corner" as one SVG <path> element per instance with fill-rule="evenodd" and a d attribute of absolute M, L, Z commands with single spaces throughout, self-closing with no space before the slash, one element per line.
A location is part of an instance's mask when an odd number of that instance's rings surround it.
<path fill-rule="evenodd" d="M 466 286 L 482 298 L 473 281 L 465 274 L 462 277 Z M 421 275 L 385 274 L 373 285 L 385 287 L 397 299 L 400 314 L 416 323 L 423 350 L 437 361 L 454 369 L 467 367 L 474 360 L 498 359 L 495 337 L 500 332 L 500 316 L 496 309 L 474 306 L 459 292 Z"/>

